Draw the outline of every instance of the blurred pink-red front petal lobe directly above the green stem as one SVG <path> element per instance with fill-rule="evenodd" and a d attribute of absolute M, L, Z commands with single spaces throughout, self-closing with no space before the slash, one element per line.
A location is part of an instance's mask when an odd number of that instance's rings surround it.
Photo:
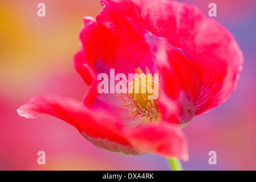
<path fill-rule="evenodd" d="M 186 137 L 177 125 L 161 122 L 160 125 L 130 130 L 129 140 L 137 150 L 188 161 Z"/>

